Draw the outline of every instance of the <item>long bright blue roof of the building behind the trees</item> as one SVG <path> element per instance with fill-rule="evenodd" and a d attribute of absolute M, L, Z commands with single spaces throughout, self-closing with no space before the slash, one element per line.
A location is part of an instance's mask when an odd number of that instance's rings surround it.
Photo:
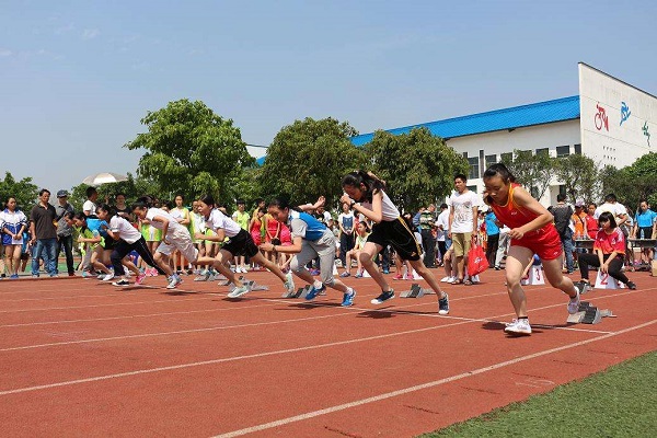
<path fill-rule="evenodd" d="M 393 135 L 400 135 L 407 134 L 413 128 L 426 127 L 433 135 L 449 139 L 577 118 L 579 118 L 579 96 L 575 95 L 385 130 Z M 362 146 L 370 142 L 373 137 L 373 132 L 361 134 L 351 137 L 351 142 L 356 146 Z"/>

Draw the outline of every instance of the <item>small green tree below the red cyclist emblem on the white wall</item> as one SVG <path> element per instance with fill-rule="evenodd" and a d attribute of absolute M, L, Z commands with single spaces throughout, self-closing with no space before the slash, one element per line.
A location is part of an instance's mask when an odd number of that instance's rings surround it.
<path fill-rule="evenodd" d="M 595 201 L 600 197 L 600 170 L 592 159 L 573 153 L 557 158 L 553 164 L 554 176 L 566 186 L 572 203 L 577 198 Z"/>

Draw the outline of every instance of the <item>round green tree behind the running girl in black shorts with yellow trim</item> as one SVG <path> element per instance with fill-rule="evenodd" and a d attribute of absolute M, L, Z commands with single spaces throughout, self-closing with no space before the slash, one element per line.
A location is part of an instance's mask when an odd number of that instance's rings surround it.
<path fill-rule="evenodd" d="M 443 198 L 454 174 L 468 174 L 468 161 L 427 128 L 397 136 L 378 130 L 365 150 L 371 170 L 385 181 L 388 196 L 406 211 Z"/>

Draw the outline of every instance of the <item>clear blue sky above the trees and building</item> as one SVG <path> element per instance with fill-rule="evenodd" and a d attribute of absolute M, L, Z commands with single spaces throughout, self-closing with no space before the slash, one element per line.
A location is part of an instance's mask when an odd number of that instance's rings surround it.
<path fill-rule="evenodd" d="M 304 117 L 365 134 L 575 95 L 578 61 L 657 94 L 656 27 L 655 1 L 1 0 L 0 172 L 136 173 L 123 145 L 178 99 L 267 146 Z"/>

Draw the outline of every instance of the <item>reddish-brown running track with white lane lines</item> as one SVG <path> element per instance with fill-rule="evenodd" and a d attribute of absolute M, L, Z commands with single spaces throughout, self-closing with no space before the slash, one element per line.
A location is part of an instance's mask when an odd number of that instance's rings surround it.
<path fill-rule="evenodd" d="M 638 290 L 584 296 L 618 314 L 597 325 L 566 325 L 565 296 L 528 287 L 534 333 L 517 338 L 503 332 L 512 309 L 495 270 L 446 286 L 448 316 L 434 295 L 374 307 L 369 278 L 347 278 L 348 309 L 331 290 L 280 299 L 267 273 L 247 278 L 269 291 L 238 301 L 192 277 L 174 291 L 162 277 L 2 280 L 2 435 L 415 436 L 655 350 L 657 279 L 630 277 Z"/>

